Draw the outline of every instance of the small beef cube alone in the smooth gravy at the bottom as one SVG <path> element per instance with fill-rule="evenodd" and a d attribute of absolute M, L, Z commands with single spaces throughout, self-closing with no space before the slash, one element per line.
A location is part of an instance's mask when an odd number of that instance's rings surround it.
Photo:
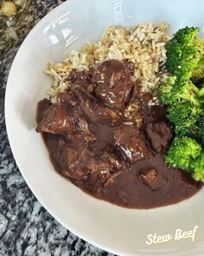
<path fill-rule="evenodd" d="M 140 181 L 142 181 L 147 187 L 150 187 L 151 190 L 158 190 L 167 182 L 167 179 L 165 179 L 162 174 L 159 174 L 158 171 L 153 167 L 146 170 L 141 170 L 138 173 L 138 177 Z"/>

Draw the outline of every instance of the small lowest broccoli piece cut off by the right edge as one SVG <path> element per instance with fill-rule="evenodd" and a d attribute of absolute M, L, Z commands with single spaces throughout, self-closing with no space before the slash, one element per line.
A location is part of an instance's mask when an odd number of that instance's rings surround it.
<path fill-rule="evenodd" d="M 193 177 L 195 181 L 204 181 L 204 150 L 200 156 L 192 161 L 191 169 L 194 172 Z"/>

